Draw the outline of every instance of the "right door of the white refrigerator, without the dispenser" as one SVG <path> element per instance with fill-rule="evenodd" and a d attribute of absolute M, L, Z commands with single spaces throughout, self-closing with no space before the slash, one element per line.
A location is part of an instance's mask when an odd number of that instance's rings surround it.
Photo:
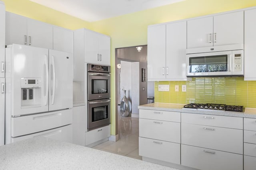
<path fill-rule="evenodd" d="M 72 53 L 49 50 L 49 111 L 73 106 Z"/>

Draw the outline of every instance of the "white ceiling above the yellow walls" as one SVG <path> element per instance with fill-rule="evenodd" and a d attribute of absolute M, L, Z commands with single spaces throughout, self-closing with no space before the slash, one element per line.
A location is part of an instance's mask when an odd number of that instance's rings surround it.
<path fill-rule="evenodd" d="M 85 21 L 98 21 L 184 0 L 30 0 Z"/>

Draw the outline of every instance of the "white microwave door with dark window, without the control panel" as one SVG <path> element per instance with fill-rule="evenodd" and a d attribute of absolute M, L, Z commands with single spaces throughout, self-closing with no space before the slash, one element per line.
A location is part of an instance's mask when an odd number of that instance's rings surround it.
<path fill-rule="evenodd" d="M 232 51 L 186 55 L 186 76 L 232 75 Z"/>

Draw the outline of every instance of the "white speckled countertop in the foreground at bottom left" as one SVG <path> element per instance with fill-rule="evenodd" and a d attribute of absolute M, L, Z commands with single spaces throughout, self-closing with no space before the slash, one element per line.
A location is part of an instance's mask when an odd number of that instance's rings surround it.
<path fill-rule="evenodd" d="M 0 169 L 176 170 L 80 145 L 35 137 L 0 147 Z"/>

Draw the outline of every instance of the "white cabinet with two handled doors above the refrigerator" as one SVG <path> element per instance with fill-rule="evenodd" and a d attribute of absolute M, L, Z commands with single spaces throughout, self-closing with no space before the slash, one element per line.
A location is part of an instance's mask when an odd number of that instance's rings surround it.
<path fill-rule="evenodd" d="M 52 25 L 6 12 L 6 45 L 22 44 L 52 49 Z"/>

